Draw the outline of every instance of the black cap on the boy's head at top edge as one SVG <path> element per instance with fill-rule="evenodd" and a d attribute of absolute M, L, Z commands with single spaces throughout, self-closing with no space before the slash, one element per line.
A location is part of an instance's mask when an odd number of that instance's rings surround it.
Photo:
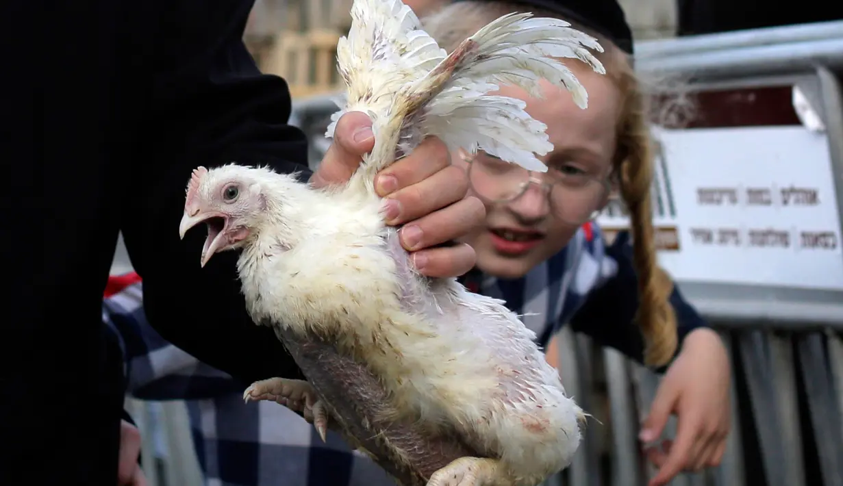
<path fill-rule="evenodd" d="M 453 0 L 454 3 L 463 0 Z M 502 0 L 475 0 L 476 2 L 500 2 Z M 529 7 L 541 8 L 548 12 L 559 14 L 583 27 L 592 29 L 600 35 L 605 35 L 622 51 L 632 54 L 632 31 L 626 23 L 624 11 L 617 0 L 503 0 L 507 3 L 524 5 L 525 12 Z"/>

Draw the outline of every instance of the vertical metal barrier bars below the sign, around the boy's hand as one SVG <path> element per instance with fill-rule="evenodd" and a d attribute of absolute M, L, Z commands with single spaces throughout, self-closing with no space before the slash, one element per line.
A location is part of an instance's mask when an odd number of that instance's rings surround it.
<path fill-rule="evenodd" d="M 843 480 L 843 426 L 838 411 L 843 399 L 839 392 L 843 387 L 840 334 L 730 331 L 728 324 L 712 325 L 721 331 L 730 355 L 736 360 L 731 396 L 733 429 L 719 467 L 703 473 L 682 474 L 673 484 L 840 484 Z M 588 366 L 593 360 L 587 343 L 588 338 L 564 330 L 559 341 L 560 355 L 568 358 L 560 367 L 570 392 L 583 406 L 591 405 L 594 409 L 597 393 L 593 389 L 593 371 Z M 640 411 L 647 410 L 652 402 L 659 377 L 615 350 L 600 350 L 598 356 L 604 366 L 610 408 L 597 418 L 606 424 L 606 432 L 612 436 L 611 445 L 600 450 L 594 437 L 594 429 L 599 425 L 592 425 L 587 430 L 583 449 L 564 473 L 566 483 L 646 484 L 644 472 L 648 467 L 642 461 L 636 437 L 643 418 Z M 743 393 L 738 393 L 738 387 L 743 387 L 740 390 Z M 803 419 L 808 419 L 808 423 L 803 423 Z M 754 436 L 745 437 L 747 430 Z M 675 423 L 668 424 L 666 435 L 674 432 Z M 808 440 L 804 435 L 812 435 L 813 439 Z M 811 463 L 816 467 L 809 471 L 805 451 L 813 448 L 817 456 Z M 599 475 L 600 455 L 610 460 L 608 482 Z M 747 461 L 748 455 L 754 457 Z M 813 482 L 806 478 L 813 478 Z"/>

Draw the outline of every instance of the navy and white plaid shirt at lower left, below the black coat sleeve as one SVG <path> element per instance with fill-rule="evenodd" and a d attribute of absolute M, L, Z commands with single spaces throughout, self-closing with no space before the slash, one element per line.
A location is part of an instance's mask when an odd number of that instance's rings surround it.
<path fill-rule="evenodd" d="M 244 403 L 243 387 L 165 341 L 146 320 L 137 274 L 112 276 L 103 320 L 126 357 L 126 393 L 183 400 L 207 486 L 395 486 L 377 464 L 329 431 L 323 443 L 298 414 Z"/>

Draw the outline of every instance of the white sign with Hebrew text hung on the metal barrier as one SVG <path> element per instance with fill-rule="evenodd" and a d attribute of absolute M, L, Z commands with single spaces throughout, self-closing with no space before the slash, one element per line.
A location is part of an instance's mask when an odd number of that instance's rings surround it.
<path fill-rule="evenodd" d="M 658 130 L 659 262 L 676 280 L 843 290 L 826 135 L 803 126 Z M 617 208 L 598 218 L 628 227 Z"/>

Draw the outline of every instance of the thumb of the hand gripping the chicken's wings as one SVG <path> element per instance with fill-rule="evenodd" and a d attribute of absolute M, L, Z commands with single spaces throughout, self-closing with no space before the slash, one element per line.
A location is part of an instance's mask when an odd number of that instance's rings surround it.
<path fill-rule="evenodd" d="M 372 120 L 362 111 L 349 111 L 336 122 L 334 141 L 310 179 L 314 187 L 344 183 L 352 177 L 364 153 L 374 147 Z"/>

